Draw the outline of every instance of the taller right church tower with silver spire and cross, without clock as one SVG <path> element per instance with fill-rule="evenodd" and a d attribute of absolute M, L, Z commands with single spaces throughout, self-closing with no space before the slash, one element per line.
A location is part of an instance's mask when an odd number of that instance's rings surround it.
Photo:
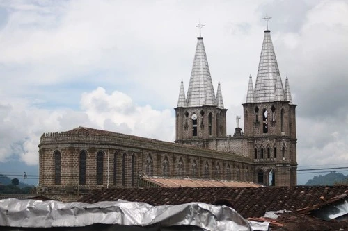
<path fill-rule="evenodd" d="M 270 18 L 264 19 L 268 22 Z M 296 185 L 296 105 L 292 103 L 287 78 L 283 87 L 268 24 L 255 87 L 250 76 L 243 108 L 244 136 L 256 164 L 254 181 L 274 186 Z"/>

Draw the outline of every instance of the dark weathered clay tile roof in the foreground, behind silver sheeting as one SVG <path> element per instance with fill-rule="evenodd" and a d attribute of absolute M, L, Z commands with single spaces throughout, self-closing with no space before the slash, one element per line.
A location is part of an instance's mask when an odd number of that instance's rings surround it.
<path fill-rule="evenodd" d="M 177 187 L 148 189 L 99 189 L 81 198 L 81 202 L 129 200 L 150 205 L 178 205 L 189 202 L 212 204 L 227 199 L 245 218 L 264 216 L 266 211 L 287 209 L 295 211 L 310 207 L 326 199 L 343 194 L 348 186 L 296 187 Z"/>

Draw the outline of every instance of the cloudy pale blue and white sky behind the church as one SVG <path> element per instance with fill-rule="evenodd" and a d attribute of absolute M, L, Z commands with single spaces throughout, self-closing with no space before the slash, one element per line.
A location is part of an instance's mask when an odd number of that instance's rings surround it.
<path fill-rule="evenodd" d="M 43 132 L 86 126 L 174 141 L 199 21 L 233 134 L 266 14 L 297 105 L 299 169 L 348 166 L 348 1 L 2 0 L 0 174 L 26 171 L 32 179 L 20 180 L 37 183 Z M 298 183 L 314 175 L 299 171 Z"/>

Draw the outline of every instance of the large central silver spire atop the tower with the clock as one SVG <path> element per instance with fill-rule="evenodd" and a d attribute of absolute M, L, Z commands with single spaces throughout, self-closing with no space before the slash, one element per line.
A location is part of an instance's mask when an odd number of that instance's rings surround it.
<path fill-rule="evenodd" d="M 187 107 L 217 106 L 202 37 L 198 37 L 186 101 Z"/>

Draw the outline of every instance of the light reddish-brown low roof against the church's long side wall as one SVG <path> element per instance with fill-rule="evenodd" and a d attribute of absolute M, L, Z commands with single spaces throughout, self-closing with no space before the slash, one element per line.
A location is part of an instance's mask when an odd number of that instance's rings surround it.
<path fill-rule="evenodd" d="M 191 178 L 154 178 L 143 177 L 143 180 L 152 182 L 160 187 L 262 187 L 253 182 L 237 182 L 228 180 L 200 180 Z"/>

